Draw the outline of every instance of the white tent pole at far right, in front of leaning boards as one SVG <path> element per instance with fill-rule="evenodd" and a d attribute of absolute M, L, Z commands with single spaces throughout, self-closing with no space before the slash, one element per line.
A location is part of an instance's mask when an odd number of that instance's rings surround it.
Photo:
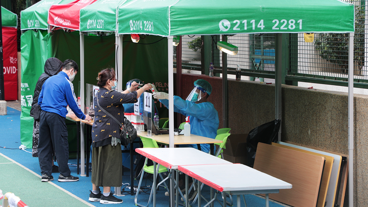
<path fill-rule="evenodd" d="M 349 33 L 348 70 L 348 137 L 349 137 L 349 207 L 354 204 L 354 33 Z"/>

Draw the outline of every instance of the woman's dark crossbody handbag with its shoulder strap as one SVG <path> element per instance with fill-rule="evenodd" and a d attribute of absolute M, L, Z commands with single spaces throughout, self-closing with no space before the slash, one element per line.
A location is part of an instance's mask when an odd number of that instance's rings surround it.
<path fill-rule="evenodd" d="M 132 143 L 135 138 L 137 138 L 137 130 L 133 127 L 131 122 L 124 116 L 124 125 L 122 125 L 115 117 L 113 117 L 109 112 L 100 106 L 99 100 L 97 98 L 97 104 L 100 109 L 109 115 L 116 123 L 120 126 L 120 141 L 122 145 L 128 145 Z"/>

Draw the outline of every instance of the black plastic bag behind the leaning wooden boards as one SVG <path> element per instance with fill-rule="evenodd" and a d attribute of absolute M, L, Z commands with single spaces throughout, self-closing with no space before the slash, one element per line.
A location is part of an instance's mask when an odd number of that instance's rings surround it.
<path fill-rule="evenodd" d="M 274 121 L 267 122 L 249 132 L 247 137 L 247 166 L 253 167 L 259 142 L 265 144 L 277 142 L 280 125 L 281 120 L 275 119 Z"/>

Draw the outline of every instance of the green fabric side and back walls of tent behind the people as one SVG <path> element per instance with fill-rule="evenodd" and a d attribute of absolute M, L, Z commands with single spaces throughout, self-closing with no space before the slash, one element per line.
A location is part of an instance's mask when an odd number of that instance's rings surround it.
<path fill-rule="evenodd" d="M 27 30 L 22 34 L 21 141 L 28 148 L 32 146 L 33 130 L 33 118 L 29 116 L 29 110 L 37 79 L 44 72 L 45 61 L 49 57 L 61 61 L 73 59 L 80 67 L 79 38 L 79 32 L 66 33 L 63 30 L 56 30 L 52 34 Z M 154 83 L 159 91 L 167 92 L 167 38 L 147 36 L 138 44 L 132 43 L 130 38 L 130 35 L 124 36 L 123 80 L 119 81 L 125 85 L 128 80 L 139 78 L 145 83 Z M 84 36 L 84 67 L 85 83 L 94 85 L 101 70 L 115 67 L 115 35 Z M 80 73 L 73 80 L 77 95 L 79 80 Z M 157 107 L 160 117 L 165 117 L 167 109 L 159 103 Z"/>

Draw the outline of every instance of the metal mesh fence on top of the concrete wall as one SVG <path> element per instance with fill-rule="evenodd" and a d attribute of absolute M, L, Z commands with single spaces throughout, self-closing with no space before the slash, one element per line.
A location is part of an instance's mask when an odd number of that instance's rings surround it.
<path fill-rule="evenodd" d="M 363 83 L 354 86 L 368 88 L 368 0 L 347 2 L 355 5 L 354 81 Z M 237 55 L 227 56 L 228 70 L 235 70 L 238 64 L 243 71 L 253 74 L 274 74 L 275 34 L 237 34 L 227 38 L 229 43 L 239 48 Z M 213 64 L 221 68 L 222 53 L 216 48 L 217 41 L 221 41 L 219 35 L 211 36 Z M 200 70 L 201 44 L 200 36 L 182 37 L 184 69 Z M 312 43 L 304 41 L 304 34 L 290 34 L 288 50 L 286 79 L 309 78 L 308 82 L 337 85 L 347 80 L 348 34 L 319 33 L 315 34 Z M 263 78 L 260 80 L 263 81 Z"/>

